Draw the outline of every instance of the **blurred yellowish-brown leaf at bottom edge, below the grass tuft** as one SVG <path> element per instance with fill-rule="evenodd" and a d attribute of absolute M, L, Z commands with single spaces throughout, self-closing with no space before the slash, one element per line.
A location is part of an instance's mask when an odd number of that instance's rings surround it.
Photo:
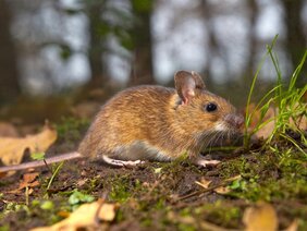
<path fill-rule="evenodd" d="M 245 209 L 243 222 L 245 231 L 275 231 L 279 223 L 275 209 L 263 202 Z"/>

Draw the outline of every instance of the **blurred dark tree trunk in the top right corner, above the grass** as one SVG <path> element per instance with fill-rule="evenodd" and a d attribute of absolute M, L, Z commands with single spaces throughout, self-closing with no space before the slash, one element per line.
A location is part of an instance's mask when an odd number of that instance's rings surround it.
<path fill-rule="evenodd" d="M 304 0 L 281 0 L 281 3 L 285 12 L 285 48 L 290 56 L 292 66 L 295 69 L 307 48 L 307 39 L 304 35 L 304 27 L 306 27 L 306 25 L 303 24 L 300 17 L 302 10 L 304 9 Z M 306 69 L 302 69 L 302 77 L 297 80 L 297 83 L 302 86 L 306 84 Z"/>

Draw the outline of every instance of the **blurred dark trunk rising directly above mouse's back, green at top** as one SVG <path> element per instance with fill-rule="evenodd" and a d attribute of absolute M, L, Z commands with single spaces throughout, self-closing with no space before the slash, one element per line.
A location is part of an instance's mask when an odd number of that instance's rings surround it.
<path fill-rule="evenodd" d="M 132 11 L 136 17 L 132 29 L 133 63 L 130 85 L 154 84 L 152 41 L 150 16 L 152 1 L 131 0 Z"/>

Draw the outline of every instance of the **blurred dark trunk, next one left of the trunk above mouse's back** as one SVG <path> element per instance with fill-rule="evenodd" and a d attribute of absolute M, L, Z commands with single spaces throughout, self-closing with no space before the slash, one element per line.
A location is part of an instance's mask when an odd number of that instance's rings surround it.
<path fill-rule="evenodd" d="M 101 14 L 103 10 L 105 1 L 89 2 L 87 5 L 87 15 L 89 21 L 89 47 L 88 59 L 91 71 L 91 77 L 89 81 L 90 87 L 99 87 L 108 84 L 108 77 L 103 70 L 103 40 L 102 35 L 99 32 L 101 24 Z"/>

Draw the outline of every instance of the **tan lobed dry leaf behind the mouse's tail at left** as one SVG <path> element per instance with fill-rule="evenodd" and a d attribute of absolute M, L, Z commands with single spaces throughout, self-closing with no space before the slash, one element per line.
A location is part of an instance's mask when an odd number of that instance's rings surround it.
<path fill-rule="evenodd" d="M 57 139 L 57 131 L 45 126 L 42 132 L 24 138 L 0 137 L 0 159 L 5 166 L 19 165 L 26 149 L 46 151 Z"/>

